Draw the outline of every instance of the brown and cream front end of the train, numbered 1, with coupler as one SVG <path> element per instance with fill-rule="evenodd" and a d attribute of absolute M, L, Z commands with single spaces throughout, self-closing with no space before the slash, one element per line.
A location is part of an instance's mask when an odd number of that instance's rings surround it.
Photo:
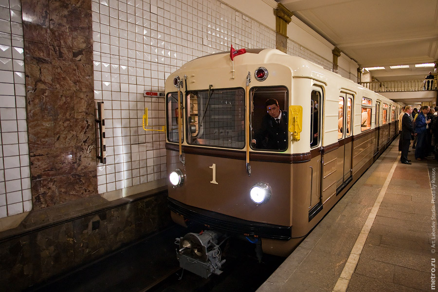
<path fill-rule="evenodd" d="M 278 100 L 281 110 L 290 106 L 291 70 L 267 62 L 281 54 L 248 50 L 234 61 L 209 55 L 167 78 L 168 206 L 175 222 L 203 226 L 204 233 L 177 239 L 181 266 L 203 277 L 220 274 L 224 237 L 269 254 L 291 252 L 271 243 L 293 241 L 293 133 L 285 130 L 284 143 L 268 148 L 257 136 L 267 99 Z"/>

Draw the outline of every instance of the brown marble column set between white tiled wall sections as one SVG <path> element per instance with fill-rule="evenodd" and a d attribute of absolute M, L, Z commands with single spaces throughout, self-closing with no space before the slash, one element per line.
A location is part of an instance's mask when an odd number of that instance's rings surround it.
<path fill-rule="evenodd" d="M 34 209 L 97 195 L 91 0 L 22 0 Z"/>

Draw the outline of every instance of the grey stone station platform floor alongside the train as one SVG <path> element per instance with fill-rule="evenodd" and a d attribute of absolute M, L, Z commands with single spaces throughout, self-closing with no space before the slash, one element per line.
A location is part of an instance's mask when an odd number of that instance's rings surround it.
<path fill-rule="evenodd" d="M 437 289 L 438 163 L 414 151 L 396 139 L 257 292 Z"/>

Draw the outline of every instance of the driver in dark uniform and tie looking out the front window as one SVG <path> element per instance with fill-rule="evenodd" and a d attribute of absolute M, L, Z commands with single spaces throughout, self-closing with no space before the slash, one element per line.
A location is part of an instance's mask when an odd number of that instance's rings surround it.
<path fill-rule="evenodd" d="M 265 102 L 267 114 L 263 117 L 256 139 L 251 142 L 256 148 L 285 150 L 288 146 L 288 114 L 280 110 L 276 99 Z"/>

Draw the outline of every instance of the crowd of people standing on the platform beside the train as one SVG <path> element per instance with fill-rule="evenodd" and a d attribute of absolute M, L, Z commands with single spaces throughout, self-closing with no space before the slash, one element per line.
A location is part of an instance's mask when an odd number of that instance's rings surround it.
<path fill-rule="evenodd" d="M 412 164 L 407 158 L 410 152 L 410 144 L 413 140 L 412 149 L 415 149 L 415 159 L 418 161 L 427 160 L 427 157 L 434 156 L 438 161 L 438 107 L 431 109 L 423 106 L 420 110 L 411 106 L 402 108 L 399 117 L 399 151 L 402 151 L 400 158 L 402 164 Z"/>

